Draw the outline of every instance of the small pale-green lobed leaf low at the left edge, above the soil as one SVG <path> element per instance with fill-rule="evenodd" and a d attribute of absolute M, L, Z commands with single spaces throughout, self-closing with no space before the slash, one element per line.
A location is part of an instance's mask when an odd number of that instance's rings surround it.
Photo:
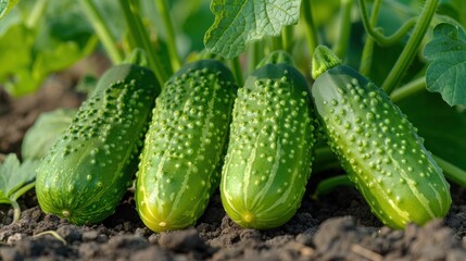
<path fill-rule="evenodd" d="M 34 187 L 39 161 L 20 164 L 16 154 L 8 154 L 0 164 L 0 203 L 9 203 L 14 209 L 13 222 L 20 220 L 21 209 L 16 200 Z"/>

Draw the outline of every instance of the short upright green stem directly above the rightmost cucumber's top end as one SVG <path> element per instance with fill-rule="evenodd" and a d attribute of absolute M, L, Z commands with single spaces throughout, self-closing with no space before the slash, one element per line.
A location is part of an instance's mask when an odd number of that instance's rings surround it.
<path fill-rule="evenodd" d="M 340 32 L 339 38 L 333 47 L 333 52 L 340 59 L 347 57 L 348 45 L 350 42 L 351 35 L 351 10 L 353 8 L 354 0 L 341 0 L 340 8 Z"/>

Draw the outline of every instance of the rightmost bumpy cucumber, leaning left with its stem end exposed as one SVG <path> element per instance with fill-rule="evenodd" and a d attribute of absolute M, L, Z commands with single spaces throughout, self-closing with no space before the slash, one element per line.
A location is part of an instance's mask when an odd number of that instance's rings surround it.
<path fill-rule="evenodd" d="M 442 170 L 380 88 L 338 65 L 317 77 L 312 96 L 332 151 L 380 221 L 403 228 L 448 213 Z"/>

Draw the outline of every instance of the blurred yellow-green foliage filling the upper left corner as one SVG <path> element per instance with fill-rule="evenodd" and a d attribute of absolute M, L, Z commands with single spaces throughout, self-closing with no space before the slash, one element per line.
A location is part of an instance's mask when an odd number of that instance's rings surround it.
<path fill-rule="evenodd" d="M 36 91 L 50 74 L 89 55 L 98 44 L 79 2 L 48 2 L 29 25 L 33 9 L 34 1 L 20 1 L 0 26 L 0 50 L 9 50 L 0 55 L 0 83 L 13 97 Z"/>

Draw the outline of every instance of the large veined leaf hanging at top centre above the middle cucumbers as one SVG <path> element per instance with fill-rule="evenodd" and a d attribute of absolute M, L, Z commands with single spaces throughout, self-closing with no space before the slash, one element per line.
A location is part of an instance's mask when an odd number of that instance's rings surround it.
<path fill-rule="evenodd" d="M 209 51 L 232 59 L 247 45 L 277 36 L 286 25 L 298 23 L 299 0 L 213 0 L 214 24 L 204 36 Z"/>

